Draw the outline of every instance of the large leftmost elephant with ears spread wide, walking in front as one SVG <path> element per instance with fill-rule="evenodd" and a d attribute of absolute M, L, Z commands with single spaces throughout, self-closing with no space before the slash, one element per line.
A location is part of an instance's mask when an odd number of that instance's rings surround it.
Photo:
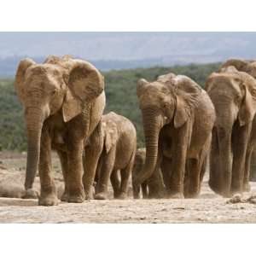
<path fill-rule="evenodd" d="M 55 149 L 65 181 L 62 200 L 79 203 L 90 199 L 102 147 L 99 139 L 105 108 L 102 74 L 89 62 L 69 55 L 49 55 L 42 64 L 26 58 L 17 68 L 15 90 L 25 109 L 26 191 L 32 189 L 39 169 L 38 205 L 59 203 L 50 156 L 51 149 Z M 87 147 L 84 163 L 82 156 L 89 138 L 94 146 Z"/>

